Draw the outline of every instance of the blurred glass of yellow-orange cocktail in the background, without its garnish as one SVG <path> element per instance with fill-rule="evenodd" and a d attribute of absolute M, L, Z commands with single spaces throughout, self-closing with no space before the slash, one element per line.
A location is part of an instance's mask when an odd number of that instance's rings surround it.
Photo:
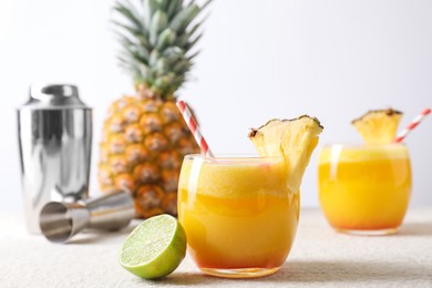
<path fill-rule="evenodd" d="M 338 230 L 397 232 L 411 195 L 411 166 L 403 144 L 331 145 L 318 168 L 319 200 Z"/>

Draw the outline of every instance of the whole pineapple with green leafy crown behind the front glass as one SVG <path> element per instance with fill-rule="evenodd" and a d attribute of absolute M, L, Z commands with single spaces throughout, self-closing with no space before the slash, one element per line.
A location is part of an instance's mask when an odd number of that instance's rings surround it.
<path fill-rule="evenodd" d="M 194 0 L 128 0 L 116 3 L 121 65 L 132 74 L 136 95 L 109 109 L 100 144 L 102 191 L 133 194 L 138 217 L 177 214 L 177 184 L 184 155 L 198 153 L 175 105 L 202 34 L 193 23 L 209 3 Z"/>

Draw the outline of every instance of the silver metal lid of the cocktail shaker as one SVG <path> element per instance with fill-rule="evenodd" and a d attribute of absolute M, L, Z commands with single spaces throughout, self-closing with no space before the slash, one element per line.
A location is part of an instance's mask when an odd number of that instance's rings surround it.
<path fill-rule="evenodd" d="M 81 101 L 78 88 L 71 84 L 33 84 L 29 96 L 22 109 L 90 109 Z"/>

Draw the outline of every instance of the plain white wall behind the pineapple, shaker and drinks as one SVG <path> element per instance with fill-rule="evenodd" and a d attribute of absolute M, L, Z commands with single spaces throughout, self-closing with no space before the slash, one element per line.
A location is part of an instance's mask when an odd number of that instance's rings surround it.
<path fill-rule="evenodd" d="M 0 1 L 1 209 L 21 209 L 14 109 L 35 81 L 79 84 L 94 107 L 92 193 L 97 143 L 110 102 L 132 93 L 116 66 L 113 1 Z M 402 125 L 432 105 L 432 1 L 216 0 L 194 81 L 179 91 L 197 111 L 216 153 L 254 152 L 248 128 L 311 114 L 322 143 L 360 137 L 350 121 L 393 106 Z M 411 205 L 432 205 L 432 117 L 410 135 Z M 302 205 L 317 206 L 317 153 Z"/>

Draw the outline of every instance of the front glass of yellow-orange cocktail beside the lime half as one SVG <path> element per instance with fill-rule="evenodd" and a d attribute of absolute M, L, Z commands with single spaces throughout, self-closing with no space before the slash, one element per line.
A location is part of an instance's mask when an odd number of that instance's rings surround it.
<path fill-rule="evenodd" d="M 282 157 L 186 156 L 178 218 L 203 271 L 256 277 L 285 263 L 299 217 L 299 194 L 286 176 Z"/>

